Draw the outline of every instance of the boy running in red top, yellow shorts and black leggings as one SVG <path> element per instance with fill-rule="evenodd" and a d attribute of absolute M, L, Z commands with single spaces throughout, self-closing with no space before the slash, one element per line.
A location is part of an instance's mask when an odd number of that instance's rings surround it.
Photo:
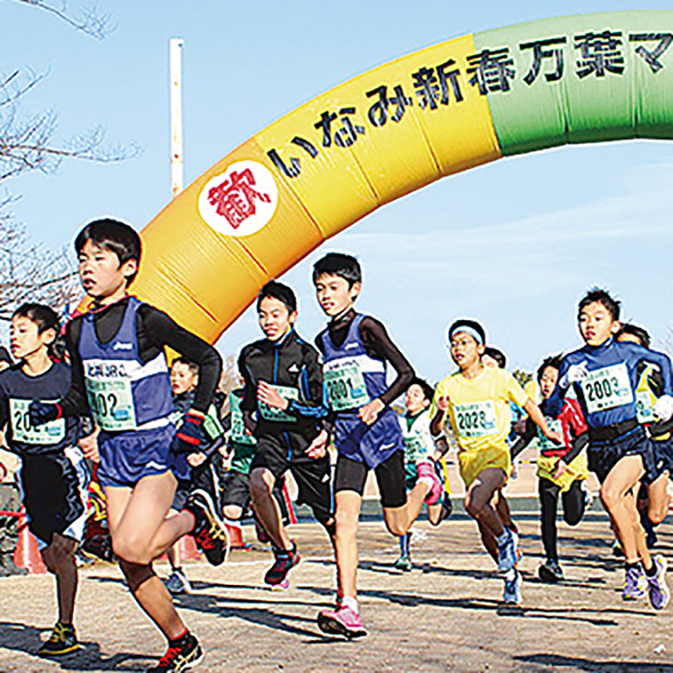
<path fill-rule="evenodd" d="M 561 356 L 547 357 L 537 369 L 537 382 L 544 400 L 540 409 L 545 413 L 545 402 L 557 385 Z M 585 482 L 588 478 L 587 454 L 588 428 L 582 407 L 576 399 L 566 399 L 557 419 L 547 418 L 549 427 L 563 435 L 563 446 L 544 437 L 527 418 L 523 437 L 512 447 L 515 458 L 530 444 L 534 437 L 539 442 L 537 456 L 538 494 L 540 498 L 540 529 L 545 547 L 546 561 L 537 568 L 543 582 L 559 582 L 563 570 L 558 564 L 557 506 L 561 496 L 563 520 L 568 526 L 577 526 L 584 516 L 586 503 Z"/>

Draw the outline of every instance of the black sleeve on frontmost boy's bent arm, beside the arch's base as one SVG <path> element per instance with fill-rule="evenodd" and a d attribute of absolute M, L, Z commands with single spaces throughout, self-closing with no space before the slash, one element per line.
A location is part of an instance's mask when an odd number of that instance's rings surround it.
<path fill-rule="evenodd" d="M 199 366 L 198 386 L 192 407 L 206 413 L 222 373 L 222 357 L 200 336 L 179 326 L 154 306 L 142 306 L 143 330 L 148 341 L 161 348 L 172 348 Z"/>

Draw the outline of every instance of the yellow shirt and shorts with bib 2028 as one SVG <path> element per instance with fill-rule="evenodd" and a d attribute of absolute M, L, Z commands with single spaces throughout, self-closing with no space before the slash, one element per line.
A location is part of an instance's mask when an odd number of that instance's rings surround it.
<path fill-rule="evenodd" d="M 484 367 L 476 378 L 460 372 L 442 379 L 435 389 L 430 416 L 439 397 L 448 397 L 448 418 L 458 443 L 460 475 L 469 486 L 487 467 L 500 467 L 509 477 L 507 435 L 512 423 L 509 407 L 523 407 L 527 395 L 506 369 Z"/>

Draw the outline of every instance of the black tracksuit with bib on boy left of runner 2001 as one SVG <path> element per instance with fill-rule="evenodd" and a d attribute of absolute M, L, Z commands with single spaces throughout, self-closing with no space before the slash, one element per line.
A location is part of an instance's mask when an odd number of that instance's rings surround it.
<path fill-rule="evenodd" d="M 298 487 L 297 504 L 311 507 L 316 520 L 326 526 L 332 519 L 329 457 L 306 456 L 327 415 L 316 349 L 291 329 L 280 341 L 260 339 L 244 347 L 238 371 L 244 380 L 240 409 L 250 421 L 255 416 L 250 470 L 266 468 L 278 480 L 289 469 Z M 258 402 L 260 381 L 288 400 L 286 410 Z"/>

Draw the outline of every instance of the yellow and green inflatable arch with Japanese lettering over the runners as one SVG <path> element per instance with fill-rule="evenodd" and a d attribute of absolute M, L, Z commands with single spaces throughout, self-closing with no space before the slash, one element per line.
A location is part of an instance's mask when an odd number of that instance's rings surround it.
<path fill-rule="evenodd" d="M 136 294 L 214 343 L 267 279 L 442 176 L 566 143 L 673 138 L 671 43 L 673 11 L 615 12 L 381 65 L 268 126 L 166 206 L 142 232 Z"/>

